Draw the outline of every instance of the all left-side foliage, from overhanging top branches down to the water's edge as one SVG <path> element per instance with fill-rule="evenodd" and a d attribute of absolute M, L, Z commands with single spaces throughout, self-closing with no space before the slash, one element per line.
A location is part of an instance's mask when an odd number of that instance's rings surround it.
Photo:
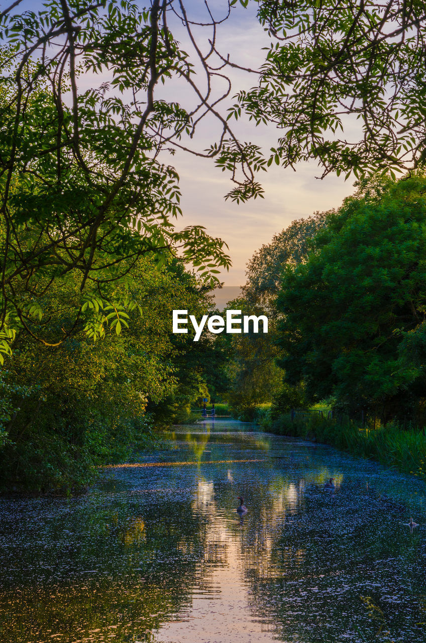
<path fill-rule="evenodd" d="M 205 155 L 232 156 L 230 196 L 244 199 L 259 192 L 257 150 L 196 84 L 169 26 L 191 41 L 182 3 L 20 5 L 0 12 L 1 485 L 69 490 L 223 386 L 211 338 L 171 334 L 176 302 L 212 308 L 230 258 L 202 226 L 175 228 L 169 155 L 207 113 L 222 136 Z M 192 107 L 164 99 L 176 81 Z"/>

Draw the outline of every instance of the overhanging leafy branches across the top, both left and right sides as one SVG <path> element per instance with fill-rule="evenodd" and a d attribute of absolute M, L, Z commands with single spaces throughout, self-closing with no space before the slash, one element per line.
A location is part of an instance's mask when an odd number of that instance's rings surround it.
<path fill-rule="evenodd" d="M 255 174 L 273 162 L 313 158 L 322 176 L 349 176 L 425 161 L 423 0 L 252 0 L 271 41 L 259 69 L 219 49 L 218 30 L 237 4 L 214 17 L 205 3 L 205 21 L 182 0 L 144 9 L 131 0 L 51 0 L 30 11 L 17 0 L 0 13 L 1 359 L 43 314 L 41 293 L 70 273 L 82 298 L 54 343 L 80 325 L 93 338 L 111 320 L 119 331 L 136 303 L 116 300 L 111 284 L 128 284 L 146 253 L 180 253 L 210 280 L 229 265 L 221 239 L 201 226 L 176 230 L 178 174 L 162 161 L 165 150 L 214 159 L 236 201 L 262 194 Z M 259 83 L 227 111 L 232 67 Z M 90 88 L 82 82 L 97 76 Z M 164 98 L 160 88 L 176 82 L 191 107 Z M 243 114 L 282 130 L 266 154 L 232 131 Z M 350 116 L 361 128 L 354 141 L 345 134 Z M 204 118 L 221 133 L 203 151 L 191 144 Z"/>

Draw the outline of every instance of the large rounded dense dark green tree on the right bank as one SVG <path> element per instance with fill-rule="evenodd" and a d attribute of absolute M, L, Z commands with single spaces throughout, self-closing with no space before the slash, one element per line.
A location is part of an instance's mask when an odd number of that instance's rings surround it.
<path fill-rule="evenodd" d="M 412 415 L 424 397 L 424 362 L 407 359 L 426 312 L 426 179 L 358 184 L 308 260 L 288 266 L 278 307 L 286 381 L 310 401 L 334 396 L 354 415 Z"/>

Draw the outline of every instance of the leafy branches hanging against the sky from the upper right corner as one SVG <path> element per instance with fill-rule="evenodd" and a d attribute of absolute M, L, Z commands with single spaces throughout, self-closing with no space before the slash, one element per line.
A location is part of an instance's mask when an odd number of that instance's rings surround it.
<path fill-rule="evenodd" d="M 282 130 L 268 164 L 316 159 L 322 177 L 425 164 L 425 0 L 258 5 L 271 44 L 259 84 L 237 93 L 230 117 Z"/>

